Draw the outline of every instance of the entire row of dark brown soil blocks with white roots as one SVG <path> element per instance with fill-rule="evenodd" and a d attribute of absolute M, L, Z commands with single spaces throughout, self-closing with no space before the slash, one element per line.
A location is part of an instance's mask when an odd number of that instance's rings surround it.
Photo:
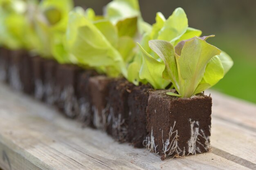
<path fill-rule="evenodd" d="M 24 51 L 1 49 L 1 80 L 61 113 L 106 131 L 118 142 L 166 157 L 209 151 L 211 97 L 168 96 L 170 90 L 135 86 L 76 65 L 30 57 Z"/>

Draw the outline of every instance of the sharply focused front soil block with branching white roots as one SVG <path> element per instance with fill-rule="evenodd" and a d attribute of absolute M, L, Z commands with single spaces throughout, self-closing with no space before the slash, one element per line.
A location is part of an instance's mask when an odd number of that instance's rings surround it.
<path fill-rule="evenodd" d="M 209 151 L 211 105 L 211 97 L 202 94 L 177 98 L 166 90 L 150 92 L 144 145 L 162 160 Z"/>

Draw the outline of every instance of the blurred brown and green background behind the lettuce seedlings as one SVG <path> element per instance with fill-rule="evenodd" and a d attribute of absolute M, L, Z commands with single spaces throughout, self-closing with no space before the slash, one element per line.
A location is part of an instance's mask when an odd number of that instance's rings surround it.
<path fill-rule="evenodd" d="M 110 0 L 75 0 L 97 14 Z M 141 13 L 150 24 L 160 11 L 167 18 L 182 7 L 189 26 L 216 35 L 207 40 L 227 52 L 234 66 L 213 89 L 256 103 L 256 0 L 140 0 Z"/>

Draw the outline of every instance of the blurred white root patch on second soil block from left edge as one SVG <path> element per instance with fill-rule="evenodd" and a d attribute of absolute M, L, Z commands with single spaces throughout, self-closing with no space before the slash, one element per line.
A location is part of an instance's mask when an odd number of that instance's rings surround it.
<path fill-rule="evenodd" d="M 13 87 L 13 89 L 16 89 L 18 91 L 21 91 L 23 89 L 22 83 L 20 81 L 20 75 L 18 68 L 15 65 L 11 65 L 9 68 L 9 74 L 10 74 L 10 85 Z"/>

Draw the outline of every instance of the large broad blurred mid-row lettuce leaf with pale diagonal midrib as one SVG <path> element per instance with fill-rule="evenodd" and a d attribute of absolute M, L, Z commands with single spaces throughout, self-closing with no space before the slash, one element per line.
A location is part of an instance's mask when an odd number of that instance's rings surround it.
<path fill-rule="evenodd" d="M 124 62 L 126 56 L 123 57 L 122 54 L 128 55 L 129 52 L 125 49 L 118 49 L 121 41 L 127 46 L 132 46 L 129 40 L 118 37 L 117 28 L 109 20 L 92 22 L 80 13 L 70 13 L 67 44 L 78 63 L 100 67 L 100 70 L 109 76 L 123 74 L 124 77 L 127 77 L 127 68 Z"/>

